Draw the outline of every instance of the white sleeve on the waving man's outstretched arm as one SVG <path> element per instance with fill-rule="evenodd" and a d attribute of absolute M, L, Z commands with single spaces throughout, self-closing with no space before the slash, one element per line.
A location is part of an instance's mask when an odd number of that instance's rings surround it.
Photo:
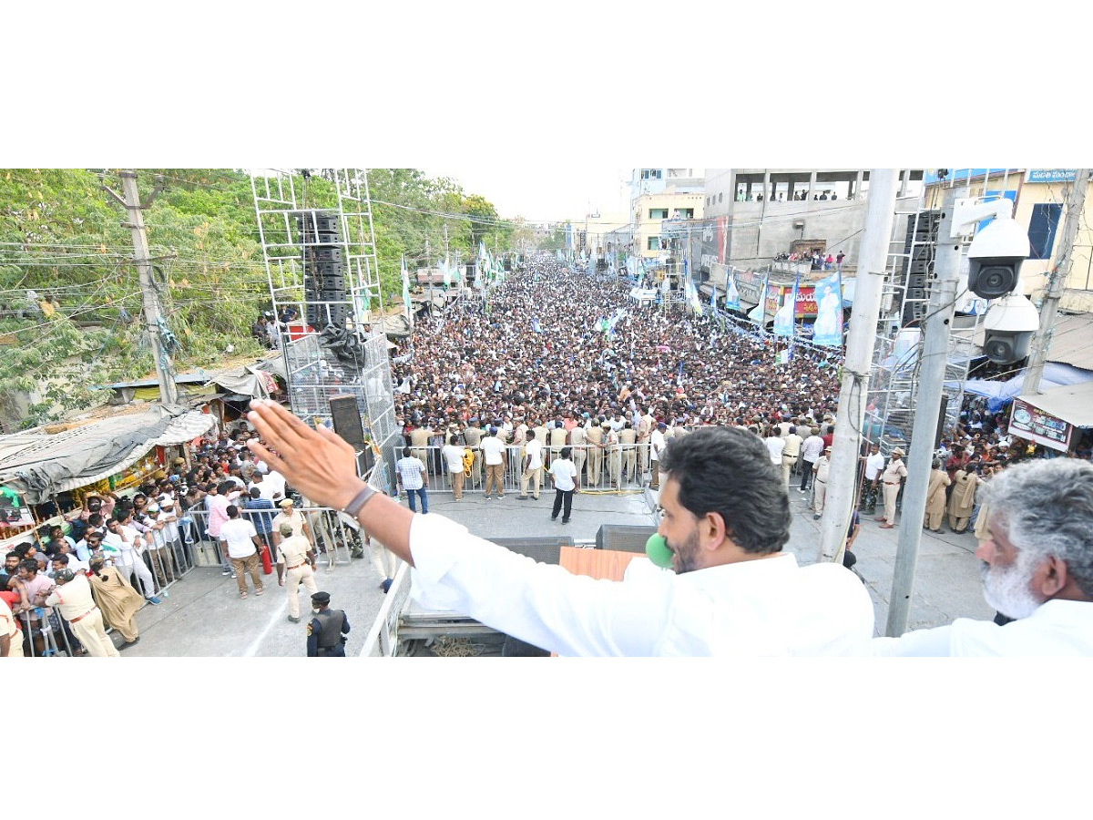
<path fill-rule="evenodd" d="M 671 578 L 631 584 L 573 575 L 439 515 L 414 516 L 410 552 L 420 606 L 459 612 L 559 655 L 655 655 L 670 625 Z"/>

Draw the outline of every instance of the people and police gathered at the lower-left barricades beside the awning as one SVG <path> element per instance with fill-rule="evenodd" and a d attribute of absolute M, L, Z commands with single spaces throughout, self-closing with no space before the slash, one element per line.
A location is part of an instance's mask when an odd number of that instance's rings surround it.
<path fill-rule="evenodd" d="M 161 604 L 163 590 L 192 565 L 193 544 L 201 541 L 219 549 L 222 573 L 237 581 L 243 598 L 248 573 L 255 590 L 262 590 L 257 559 L 269 550 L 279 583 L 289 582 L 290 620 L 298 622 L 297 585 L 317 591 L 315 537 L 294 509 L 284 478 L 251 457 L 245 443 L 252 435 L 238 430 L 203 438 L 189 461 L 176 458 L 131 496 L 87 493 L 69 516 L 67 534 L 52 526 L 9 551 L 0 570 L 7 606 L 0 608 L 0 632 L 17 634 L 5 635 L 8 652 L 43 655 L 67 645 L 75 655 L 116 655 L 104 633 L 109 629 L 121 637 L 116 648 L 132 646 L 140 640 L 136 612 L 145 602 Z M 90 597 L 82 594 L 84 584 Z M 98 614 L 85 607 L 84 619 L 72 609 L 86 601 Z M 95 619 L 101 626 L 87 631 Z"/>

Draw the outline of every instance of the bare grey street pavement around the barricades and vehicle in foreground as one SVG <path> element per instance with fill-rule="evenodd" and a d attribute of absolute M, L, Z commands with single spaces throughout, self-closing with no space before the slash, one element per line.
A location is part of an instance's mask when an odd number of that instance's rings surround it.
<path fill-rule="evenodd" d="M 820 522 L 812 519 L 806 497 L 791 487 L 792 524 L 787 549 L 799 563 L 816 560 Z M 602 524 L 650 525 L 655 522 L 656 493 L 580 493 L 574 496 L 568 525 L 550 520 L 553 491 L 539 501 L 518 501 L 516 493 L 504 500 L 485 501 L 481 494 L 465 494 L 456 502 L 450 493 L 430 494 L 430 514 L 445 515 L 483 538 L 568 536 L 575 541 L 593 541 Z M 403 502 L 404 503 L 404 502 Z M 875 633 L 884 633 L 892 588 L 896 539 L 895 529 L 880 529 L 872 516 L 862 516 L 861 532 L 855 543 L 856 570 L 863 578 L 875 611 Z M 909 629 L 950 623 L 955 618 L 990 619 L 995 612 L 983 599 L 979 560 L 973 554 L 976 541 L 969 534 L 935 535 L 921 530 L 922 539 L 912 600 Z M 352 630 L 346 655 L 361 651 L 365 636 L 384 601 L 375 552 L 363 559 L 328 567 L 319 564 L 316 583 L 330 593 L 331 606 L 344 609 Z M 285 590 L 277 575 L 262 576 L 266 591 L 250 593 L 240 600 L 236 582 L 216 567 L 197 567 L 173 585 L 158 607 L 145 606 L 138 614 L 141 641 L 125 657 L 303 657 L 305 626 L 310 600 L 301 587 L 302 619 L 287 621 Z M 249 579 L 248 579 L 249 584 Z M 116 639 L 116 641 L 119 639 Z"/>

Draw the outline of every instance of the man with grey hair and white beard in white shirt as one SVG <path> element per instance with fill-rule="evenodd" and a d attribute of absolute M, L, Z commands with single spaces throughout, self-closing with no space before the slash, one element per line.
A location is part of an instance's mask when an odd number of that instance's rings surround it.
<path fill-rule="evenodd" d="M 1055 458 L 1015 465 L 984 485 L 990 514 L 983 560 L 987 604 L 1015 619 L 957 618 L 948 626 L 878 637 L 874 655 L 1093 656 L 1093 465 Z"/>

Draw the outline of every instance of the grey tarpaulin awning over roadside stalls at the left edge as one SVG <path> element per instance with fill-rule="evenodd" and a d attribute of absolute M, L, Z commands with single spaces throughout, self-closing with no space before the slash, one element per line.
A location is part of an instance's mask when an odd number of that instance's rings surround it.
<path fill-rule="evenodd" d="M 0 437 L 0 483 L 30 504 L 121 472 L 160 445 L 181 444 L 215 420 L 195 410 L 172 415 L 160 407 L 118 414 L 61 433 L 30 431 Z"/>

